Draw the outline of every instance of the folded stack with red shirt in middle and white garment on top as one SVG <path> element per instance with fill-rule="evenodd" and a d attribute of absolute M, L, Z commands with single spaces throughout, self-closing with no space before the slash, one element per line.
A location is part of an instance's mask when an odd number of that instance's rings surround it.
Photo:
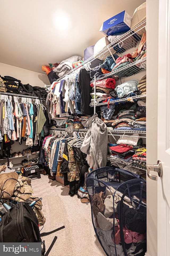
<path fill-rule="evenodd" d="M 135 149 L 142 143 L 139 134 L 132 134 L 131 136 L 122 136 L 117 141 L 117 146 L 110 147 L 111 149 L 111 163 L 120 163 L 122 168 L 126 165 L 131 166 L 133 163 L 132 155 Z M 124 165 L 124 166 L 123 166 Z"/>

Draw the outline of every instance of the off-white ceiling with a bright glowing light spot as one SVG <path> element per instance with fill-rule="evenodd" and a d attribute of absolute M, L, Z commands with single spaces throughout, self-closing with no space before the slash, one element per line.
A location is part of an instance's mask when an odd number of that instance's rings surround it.
<path fill-rule="evenodd" d="M 126 10 L 131 16 L 145 0 L 1 1 L 0 62 L 43 73 L 42 65 L 61 62 L 104 35 L 103 21 Z M 65 17 L 65 26 L 57 22 Z M 59 28 L 60 27 L 60 28 Z"/>

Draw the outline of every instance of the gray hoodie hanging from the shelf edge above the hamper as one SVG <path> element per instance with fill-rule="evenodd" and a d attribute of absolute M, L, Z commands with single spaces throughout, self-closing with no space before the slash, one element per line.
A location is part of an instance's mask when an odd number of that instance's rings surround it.
<path fill-rule="evenodd" d="M 101 119 L 96 117 L 91 121 L 81 151 L 93 160 L 94 170 L 105 167 L 107 163 L 108 132 L 107 126 Z"/>

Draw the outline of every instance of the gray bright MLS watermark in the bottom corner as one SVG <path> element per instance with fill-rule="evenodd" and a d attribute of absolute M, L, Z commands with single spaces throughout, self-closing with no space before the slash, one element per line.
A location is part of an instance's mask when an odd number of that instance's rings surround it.
<path fill-rule="evenodd" d="M 41 243 L 0 243 L 2 256 L 41 256 Z"/>

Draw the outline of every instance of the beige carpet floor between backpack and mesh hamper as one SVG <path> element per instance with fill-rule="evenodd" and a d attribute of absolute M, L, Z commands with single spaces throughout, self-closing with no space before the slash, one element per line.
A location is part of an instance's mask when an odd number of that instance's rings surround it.
<path fill-rule="evenodd" d="M 46 251 L 57 236 L 49 256 L 105 256 L 97 240 L 91 220 L 90 204 L 82 204 L 77 196 L 70 197 L 69 189 L 62 184 L 41 175 L 31 182 L 34 195 L 42 197 L 43 213 L 46 218 L 41 232 L 58 227 L 65 229 L 44 237 Z"/>

